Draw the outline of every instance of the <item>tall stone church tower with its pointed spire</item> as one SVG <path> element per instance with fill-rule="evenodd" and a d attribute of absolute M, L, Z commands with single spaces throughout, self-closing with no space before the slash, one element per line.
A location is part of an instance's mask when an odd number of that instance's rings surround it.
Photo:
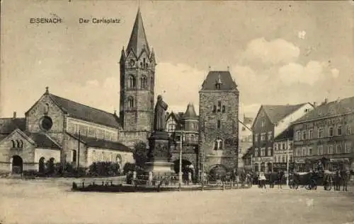
<path fill-rule="evenodd" d="M 123 47 L 120 57 L 120 119 L 125 132 L 152 130 L 155 66 L 138 9 L 127 49 Z"/>

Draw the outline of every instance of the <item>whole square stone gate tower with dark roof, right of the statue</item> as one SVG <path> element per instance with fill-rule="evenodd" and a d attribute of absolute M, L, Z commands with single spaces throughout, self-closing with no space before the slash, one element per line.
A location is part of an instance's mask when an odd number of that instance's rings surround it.
<path fill-rule="evenodd" d="M 210 71 L 199 91 L 201 171 L 222 175 L 237 167 L 239 90 L 229 71 Z"/>

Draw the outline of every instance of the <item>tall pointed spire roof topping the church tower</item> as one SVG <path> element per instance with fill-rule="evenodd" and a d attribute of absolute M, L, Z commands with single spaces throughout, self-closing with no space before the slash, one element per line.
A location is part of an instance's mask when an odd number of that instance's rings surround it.
<path fill-rule="evenodd" d="M 142 54 L 143 49 L 146 49 L 147 54 L 150 54 L 149 45 L 147 43 L 147 35 L 145 34 L 144 25 L 142 23 L 140 8 L 137 10 L 137 17 L 135 18 L 132 34 L 130 35 L 127 52 L 130 52 L 131 49 L 133 49 L 137 57 Z"/>

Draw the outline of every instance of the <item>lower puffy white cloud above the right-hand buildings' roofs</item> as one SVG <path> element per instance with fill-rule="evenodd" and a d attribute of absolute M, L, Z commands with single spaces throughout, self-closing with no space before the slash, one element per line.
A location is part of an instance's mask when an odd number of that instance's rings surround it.
<path fill-rule="evenodd" d="M 324 76 L 322 73 L 324 64 L 319 61 L 309 61 L 306 66 L 297 63 L 289 63 L 278 69 L 279 78 L 283 83 L 305 83 L 314 85 Z"/>

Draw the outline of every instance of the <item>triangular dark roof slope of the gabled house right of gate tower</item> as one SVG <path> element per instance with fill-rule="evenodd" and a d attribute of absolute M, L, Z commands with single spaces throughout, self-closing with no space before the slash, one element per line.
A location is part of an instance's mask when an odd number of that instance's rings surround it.
<path fill-rule="evenodd" d="M 261 107 L 263 107 L 263 110 L 270 119 L 270 122 L 277 124 L 281 119 L 287 117 L 287 115 L 292 114 L 306 104 L 307 103 L 301 103 L 298 105 L 262 105 Z"/>

